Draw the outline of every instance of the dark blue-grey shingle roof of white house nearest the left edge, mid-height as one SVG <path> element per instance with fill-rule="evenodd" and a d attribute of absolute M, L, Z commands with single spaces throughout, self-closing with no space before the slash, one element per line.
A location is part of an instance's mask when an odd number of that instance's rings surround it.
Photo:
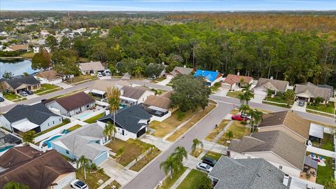
<path fill-rule="evenodd" d="M 10 123 L 27 118 L 31 123 L 35 123 L 36 125 L 41 125 L 51 116 L 61 117 L 52 113 L 41 103 L 34 105 L 17 105 L 7 113 L 4 113 L 3 116 Z"/>

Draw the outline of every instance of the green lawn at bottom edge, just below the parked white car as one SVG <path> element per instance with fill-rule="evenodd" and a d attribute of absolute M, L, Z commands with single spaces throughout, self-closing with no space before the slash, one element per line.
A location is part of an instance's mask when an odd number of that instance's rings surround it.
<path fill-rule="evenodd" d="M 177 187 L 177 189 L 195 189 L 200 186 L 200 183 L 202 182 L 202 177 L 207 176 L 206 173 L 200 172 L 196 169 L 192 169 L 190 173 L 186 176 L 186 179 L 184 179 L 180 185 Z"/>

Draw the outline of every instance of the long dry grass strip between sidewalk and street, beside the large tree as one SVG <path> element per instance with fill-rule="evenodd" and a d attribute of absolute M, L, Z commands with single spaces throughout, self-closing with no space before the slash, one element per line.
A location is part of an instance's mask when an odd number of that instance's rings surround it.
<path fill-rule="evenodd" d="M 197 112 L 193 118 L 191 118 L 188 123 L 183 125 L 179 130 L 174 132 L 170 137 L 168 137 L 167 141 L 176 141 L 182 134 L 184 134 L 186 131 L 190 129 L 190 127 L 193 127 L 199 120 L 204 118 L 211 110 L 213 110 L 216 107 L 214 104 L 209 104 L 204 110 Z"/>

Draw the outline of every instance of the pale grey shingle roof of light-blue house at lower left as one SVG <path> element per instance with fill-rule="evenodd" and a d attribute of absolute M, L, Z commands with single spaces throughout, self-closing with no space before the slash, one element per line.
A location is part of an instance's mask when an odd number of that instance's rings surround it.
<path fill-rule="evenodd" d="M 92 123 L 64 134 L 54 141 L 55 143 L 57 141 L 62 142 L 77 157 L 84 155 L 86 158 L 94 160 L 102 151 L 110 151 L 109 148 L 100 144 L 88 144 L 89 141 L 99 141 L 102 139 L 104 137 L 103 131 L 104 129 L 97 123 Z"/>

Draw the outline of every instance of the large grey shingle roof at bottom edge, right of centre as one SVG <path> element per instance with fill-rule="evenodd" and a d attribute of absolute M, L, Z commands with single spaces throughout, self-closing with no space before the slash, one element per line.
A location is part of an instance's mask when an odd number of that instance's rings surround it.
<path fill-rule="evenodd" d="M 285 174 L 264 159 L 232 159 L 222 156 L 209 173 L 219 179 L 214 189 L 289 188 L 283 185 Z"/>

